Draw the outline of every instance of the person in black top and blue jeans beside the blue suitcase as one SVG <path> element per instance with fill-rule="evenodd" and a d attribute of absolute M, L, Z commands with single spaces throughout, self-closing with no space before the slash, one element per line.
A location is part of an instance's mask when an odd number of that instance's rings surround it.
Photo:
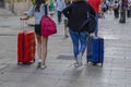
<path fill-rule="evenodd" d="M 82 55 L 87 44 L 87 32 L 80 30 L 79 27 L 86 18 L 87 14 L 95 15 L 94 9 L 85 0 L 73 0 L 71 5 L 63 10 L 63 14 L 68 17 L 69 33 L 73 42 L 73 52 L 75 58 L 74 66 L 82 66 Z"/>

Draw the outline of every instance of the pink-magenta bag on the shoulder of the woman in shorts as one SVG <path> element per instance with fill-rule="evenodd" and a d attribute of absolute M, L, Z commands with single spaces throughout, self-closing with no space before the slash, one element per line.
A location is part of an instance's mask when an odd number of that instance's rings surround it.
<path fill-rule="evenodd" d="M 57 33 L 56 23 L 47 15 L 41 17 L 41 35 L 48 37 Z"/>

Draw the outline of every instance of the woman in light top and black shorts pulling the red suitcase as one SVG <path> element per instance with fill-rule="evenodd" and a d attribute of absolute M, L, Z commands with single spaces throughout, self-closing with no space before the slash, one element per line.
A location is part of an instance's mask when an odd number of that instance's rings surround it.
<path fill-rule="evenodd" d="M 36 0 L 35 4 L 32 5 L 27 12 L 27 16 L 21 20 L 28 20 L 31 16 L 35 16 L 35 34 L 37 39 L 37 52 L 38 52 L 38 67 L 46 69 L 47 58 L 47 44 L 48 37 L 41 36 L 40 32 L 40 20 L 47 12 L 45 0 Z"/>

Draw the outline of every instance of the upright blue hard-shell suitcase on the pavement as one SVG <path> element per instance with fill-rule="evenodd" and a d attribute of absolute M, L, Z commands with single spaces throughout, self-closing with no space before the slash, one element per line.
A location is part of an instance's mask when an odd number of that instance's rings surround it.
<path fill-rule="evenodd" d="M 86 52 L 87 63 L 92 62 L 93 64 L 104 62 L 104 38 L 92 37 L 87 40 L 87 52 Z"/>

